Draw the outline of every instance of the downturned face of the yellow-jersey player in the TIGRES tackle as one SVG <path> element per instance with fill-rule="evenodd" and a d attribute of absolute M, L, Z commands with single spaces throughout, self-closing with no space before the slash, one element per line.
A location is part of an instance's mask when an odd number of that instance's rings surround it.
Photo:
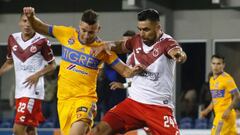
<path fill-rule="evenodd" d="M 97 33 L 100 30 L 100 26 L 98 23 L 89 25 L 82 21 L 80 22 L 79 29 L 81 42 L 83 42 L 84 44 L 90 44 L 95 40 Z"/>

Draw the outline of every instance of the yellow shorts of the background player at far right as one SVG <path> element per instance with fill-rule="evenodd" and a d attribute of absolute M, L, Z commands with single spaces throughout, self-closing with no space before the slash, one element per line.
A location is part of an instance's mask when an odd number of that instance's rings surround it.
<path fill-rule="evenodd" d="M 216 113 L 211 135 L 237 135 L 236 112 L 232 111 L 228 119 L 222 119 L 223 112 Z"/>

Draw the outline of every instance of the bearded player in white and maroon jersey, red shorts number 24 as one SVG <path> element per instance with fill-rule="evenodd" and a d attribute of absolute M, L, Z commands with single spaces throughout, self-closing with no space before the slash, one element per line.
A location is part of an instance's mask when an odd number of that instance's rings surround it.
<path fill-rule="evenodd" d="M 173 116 L 174 69 L 186 54 L 179 44 L 161 30 L 159 13 L 146 9 L 138 13 L 139 34 L 114 46 L 102 46 L 117 53 L 133 52 L 135 64 L 143 64 L 145 72 L 134 76 L 129 97 L 112 108 L 93 129 L 94 135 L 125 133 L 149 127 L 153 135 L 179 135 Z M 94 54 L 94 55 L 96 55 Z"/>

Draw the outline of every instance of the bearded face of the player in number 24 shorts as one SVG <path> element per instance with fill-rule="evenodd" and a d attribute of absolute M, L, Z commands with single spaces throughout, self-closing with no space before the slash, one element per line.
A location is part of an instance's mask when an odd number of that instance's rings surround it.
<path fill-rule="evenodd" d="M 149 20 L 138 21 L 139 34 L 145 44 L 154 43 L 160 32 L 160 25 L 158 22 L 152 22 Z"/>

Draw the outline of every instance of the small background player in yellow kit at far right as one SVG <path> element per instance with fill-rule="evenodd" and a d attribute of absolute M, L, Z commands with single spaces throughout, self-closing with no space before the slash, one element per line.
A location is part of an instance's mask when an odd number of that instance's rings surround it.
<path fill-rule="evenodd" d="M 214 110 L 211 135 L 237 135 L 234 107 L 237 105 L 239 91 L 231 75 L 224 72 L 224 66 L 224 57 L 212 56 L 213 76 L 210 78 L 212 102 L 200 113 L 201 117 L 204 117 Z"/>

